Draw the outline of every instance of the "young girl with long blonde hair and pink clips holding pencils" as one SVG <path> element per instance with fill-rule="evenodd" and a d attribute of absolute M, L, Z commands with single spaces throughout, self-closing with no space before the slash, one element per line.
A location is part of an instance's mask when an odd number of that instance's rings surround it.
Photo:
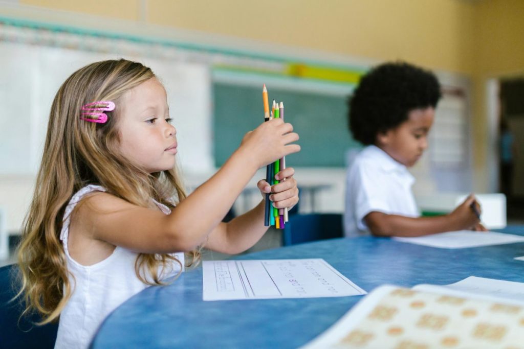
<path fill-rule="evenodd" d="M 102 320 L 148 285 L 198 262 L 201 247 L 239 253 L 266 232 L 264 200 L 222 218 L 258 168 L 298 152 L 280 119 L 248 132 L 209 181 L 185 197 L 173 167 L 176 129 L 152 71 L 127 60 L 74 72 L 51 107 L 35 195 L 19 246 L 21 293 L 42 323 L 60 317 L 56 347 L 87 347 Z M 277 208 L 298 202 L 293 168 L 261 193 Z M 177 203 L 174 208 L 175 202 Z"/>

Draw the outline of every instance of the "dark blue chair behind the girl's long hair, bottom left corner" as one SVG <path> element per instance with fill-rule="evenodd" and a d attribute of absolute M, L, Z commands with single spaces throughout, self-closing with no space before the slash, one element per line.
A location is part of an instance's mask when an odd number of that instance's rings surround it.
<path fill-rule="evenodd" d="M 19 320 L 23 305 L 19 299 L 9 302 L 17 292 L 13 284 L 17 273 L 16 264 L 0 267 L 0 348 L 52 348 L 58 323 L 34 325 L 40 320 L 36 314 Z"/>

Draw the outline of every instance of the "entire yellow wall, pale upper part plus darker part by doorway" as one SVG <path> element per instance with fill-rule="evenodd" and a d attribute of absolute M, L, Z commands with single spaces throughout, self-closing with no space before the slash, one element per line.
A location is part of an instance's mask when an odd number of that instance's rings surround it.
<path fill-rule="evenodd" d="M 524 0 L 20 0 L 368 61 L 403 59 L 473 82 L 475 188 L 487 188 L 489 77 L 524 72 Z M 299 53 L 299 52 L 298 52 Z"/>

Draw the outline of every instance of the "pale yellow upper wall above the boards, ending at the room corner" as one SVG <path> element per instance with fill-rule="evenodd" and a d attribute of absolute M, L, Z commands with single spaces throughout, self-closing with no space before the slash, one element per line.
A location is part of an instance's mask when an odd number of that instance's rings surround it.
<path fill-rule="evenodd" d="M 138 20 L 135 0 L 20 0 Z M 106 6 L 105 4 L 111 6 Z M 470 72 L 474 6 L 457 0 L 147 0 L 151 24 Z"/>

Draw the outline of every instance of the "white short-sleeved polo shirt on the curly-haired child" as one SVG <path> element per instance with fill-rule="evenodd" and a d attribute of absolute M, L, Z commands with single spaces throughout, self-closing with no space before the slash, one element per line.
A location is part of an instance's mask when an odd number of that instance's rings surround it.
<path fill-rule="evenodd" d="M 369 234 L 364 217 L 373 211 L 419 217 L 411 191 L 415 179 L 405 165 L 375 145 L 355 157 L 346 175 L 346 237 Z"/>

